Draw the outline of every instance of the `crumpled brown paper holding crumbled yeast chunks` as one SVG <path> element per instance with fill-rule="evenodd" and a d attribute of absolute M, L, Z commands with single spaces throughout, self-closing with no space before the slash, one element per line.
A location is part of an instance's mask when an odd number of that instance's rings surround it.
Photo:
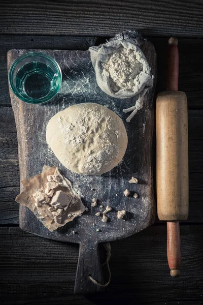
<path fill-rule="evenodd" d="M 41 204 L 37 203 L 32 196 L 39 191 L 45 193 L 46 184 L 48 182 L 47 176 L 53 176 L 51 178 L 56 177 L 57 180 L 59 180 L 58 186 L 54 189 L 54 194 L 56 191 L 63 191 L 72 197 L 68 207 L 62 209 L 62 212 L 58 208 L 54 209 L 50 205 L 51 197 L 48 203 Z M 73 189 L 71 182 L 59 173 L 55 165 L 53 167 L 44 166 L 41 174 L 22 180 L 21 182 L 24 191 L 16 197 L 15 201 L 27 206 L 50 231 L 54 231 L 57 228 L 64 226 L 76 216 L 81 216 L 86 210 L 80 196 Z M 60 214 L 60 212 L 61 216 L 56 216 Z"/>

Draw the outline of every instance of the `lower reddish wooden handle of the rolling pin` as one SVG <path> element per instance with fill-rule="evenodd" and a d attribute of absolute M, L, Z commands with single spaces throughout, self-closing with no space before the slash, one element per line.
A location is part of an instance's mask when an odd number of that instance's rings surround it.
<path fill-rule="evenodd" d="M 171 276 L 178 278 L 181 275 L 181 238 L 179 221 L 167 222 L 167 259 L 171 269 Z"/>

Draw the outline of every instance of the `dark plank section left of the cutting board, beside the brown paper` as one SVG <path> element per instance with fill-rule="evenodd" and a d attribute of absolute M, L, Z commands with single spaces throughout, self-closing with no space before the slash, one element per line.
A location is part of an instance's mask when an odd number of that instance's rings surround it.
<path fill-rule="evenodd" d="M 0 107 L 0 224 L 18 224 L 19 194 L 18 143 L 11 107 Z"/>

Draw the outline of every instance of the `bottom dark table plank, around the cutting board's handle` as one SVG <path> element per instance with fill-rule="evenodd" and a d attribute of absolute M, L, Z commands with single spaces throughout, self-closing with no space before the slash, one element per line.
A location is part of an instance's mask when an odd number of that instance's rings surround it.
<path fill-rule="evenodd" d="M 18 228 L 0 228 L 0 238 L 2 305 L 200 305 L 203 301 L 203 226 L 181 226 L 182 277 L 177 279 L 170 277 L 167 265 L 165 226 L 111 242 L 111 284 L 105 294 L 86 296 L 73 295 L 77 245 Z"/>

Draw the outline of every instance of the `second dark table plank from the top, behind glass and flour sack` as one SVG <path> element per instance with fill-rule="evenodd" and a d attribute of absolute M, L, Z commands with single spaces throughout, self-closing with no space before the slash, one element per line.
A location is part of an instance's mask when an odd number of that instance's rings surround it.
<path fill-rule="evenodd" d="M 157 52 L 158 74 L 156 93 L 166 86 L 167 38 L 149 38 Z M 81 49 L 86 50 L 95 43 L 105 42 L 104 38 L 54 37 L 54 36 L 1 36 L 0 35 L 0 105 L 10 106 L 7 72 L 7 51 L 10 49 Z M 180 73 L 179 89 L 188 98 L 190 109 L 203 108 L 203 40 L 179 39 Z"/>

